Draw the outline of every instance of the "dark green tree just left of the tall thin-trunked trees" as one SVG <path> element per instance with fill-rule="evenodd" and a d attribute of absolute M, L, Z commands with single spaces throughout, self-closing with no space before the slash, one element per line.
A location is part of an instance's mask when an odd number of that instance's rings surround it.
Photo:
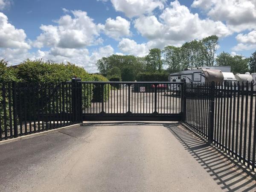
<path fill-rule="evenodd" d="M 161 71 L 163 70 L 163 63 L 161 60 L 161 50 L 154 48 L 149 49 L 148 55 L 145 56 L 147 61 L 146 70 L 148 71 Z"/>

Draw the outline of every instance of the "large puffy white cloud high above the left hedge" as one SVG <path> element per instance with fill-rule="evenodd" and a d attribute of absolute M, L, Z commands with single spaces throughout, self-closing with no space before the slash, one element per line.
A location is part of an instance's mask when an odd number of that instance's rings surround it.
<path fill-rule="evenodd" d="M 93 19 L 87 15 L 87 12 L 71 11 L 73 17 L 64 15 L 55 21 L 58 25 L 42 25 L 43 31 L 33 45 L 41 48 L 60 47 L 60 48 L 82 48 L 97 44 L 99 32 L 103 29 L 102 24 L 96 24 Z"/>

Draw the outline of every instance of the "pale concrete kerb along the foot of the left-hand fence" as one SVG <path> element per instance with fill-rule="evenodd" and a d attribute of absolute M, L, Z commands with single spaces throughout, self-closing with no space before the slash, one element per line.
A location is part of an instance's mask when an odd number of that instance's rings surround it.
<path fill-rule="evenodd" d="M 6 143 L 12 143 L 12 142 L 15 142 L 15 141 L 20 141 L 20 140 L 26 140 L 26 139 L 30 139 L 30 138 L 33 138 L 33 137 L 38 137 L 38 136 L 41 136 L 41 135 L 48 135 L 48 134 L 51 134 L 51 133 L 54 133 L 54 132 L 58 132 L 61 129 L 71 128 L 71 127 L 75 127 L 75 126 L 78 126 L 78 125 L 81 125 L 81 123 L 74 124 L 74 125 L 68 125 L 68 126 L 61 127 L 61 128 L 51 129 L 51 130 L 48 130 L 48 131 L 42 131 L 42 132 L 38 132 L 38 133 L 35 133 L 35 134 L 24 135 L 24 136 L 21 136 L 21 137 L 16 137 L 16 138 L 8 139 L 8 140 L 3 140 L 3 141 L 0 141 L 0 145 L 6 144 Z"/>

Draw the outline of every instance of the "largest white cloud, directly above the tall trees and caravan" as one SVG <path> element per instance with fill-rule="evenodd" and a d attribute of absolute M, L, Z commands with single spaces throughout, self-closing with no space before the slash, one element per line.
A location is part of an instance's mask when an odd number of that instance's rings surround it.
<path fill-rule="evenodd" d="M 166 45 L 180 45 L 185 41 L 200 39 L 209 35 L 225 37 L 231 32 L 221 21 L 209 18 L 201 19 L 193 14 L 186 6 L 176 0 L 156 16 L 141 16 L 135 20 L 134 27 L 143 36 L 151 40 L 159 48 Z"/>

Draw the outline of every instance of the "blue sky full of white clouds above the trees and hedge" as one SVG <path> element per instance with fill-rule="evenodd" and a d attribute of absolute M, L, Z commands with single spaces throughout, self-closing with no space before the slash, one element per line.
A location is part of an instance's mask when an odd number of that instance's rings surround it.
<path fill-rule="evenodd" d="M 218 35 L 219 52 L 256 50 L 256 0 L 0 0 L 0 58 L 71 62 L 145 56 Z"/>

